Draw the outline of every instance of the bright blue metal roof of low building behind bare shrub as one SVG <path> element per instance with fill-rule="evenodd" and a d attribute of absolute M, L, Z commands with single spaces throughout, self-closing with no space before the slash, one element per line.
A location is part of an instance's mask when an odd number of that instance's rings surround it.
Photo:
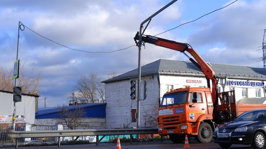
<path fill-rule="evenodd" d="M 67 106 L 68 110 L 83 107 L 86 111 L 84 118 L 105 118 L 105 106 L 106 103 L 93 103 L 93 104 L 79 104 Z M 35 113 L 35 119 L 55 119 L 60 118 L 58 115 L 57 107 L 40 108 Z"/>

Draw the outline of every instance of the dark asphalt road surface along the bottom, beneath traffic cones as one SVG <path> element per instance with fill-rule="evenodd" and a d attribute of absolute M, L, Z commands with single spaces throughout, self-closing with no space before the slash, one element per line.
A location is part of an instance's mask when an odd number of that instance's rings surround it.
<path fill-rule="evenodd" d="M 184 149 L 185 144 L 174 144 L 171 141 L 153 141 L 153 142 L 121 142 L 121 149 Z M 222 149 L 218 144 L 211 142 L 207 144 L 200 144 L 197 141 L 189 142 L 190 149 Z M 14 149 L 14 147 L 0 149 Z M 18 147 L 18 149 L 116 149 L 116 143 L 100 143 L 86 144 L 86 145 L 61 145 L 58 146 L 33 146 L 33 147 Z M 247 145 L 232 145 L 230 149 L 252 149 Z"/>

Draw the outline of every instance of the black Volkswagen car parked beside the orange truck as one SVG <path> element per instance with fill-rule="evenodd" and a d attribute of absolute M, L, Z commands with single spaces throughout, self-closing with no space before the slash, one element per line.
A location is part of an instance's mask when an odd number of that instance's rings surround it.
<path fill-rule="evenodd" d="M 263 149 L 266 144 L 266 109 L 242 113 L 229 123 L 215 128 L 213 139 L 222 148 L 232 144 L 251 145 L 253 149 Z"/>

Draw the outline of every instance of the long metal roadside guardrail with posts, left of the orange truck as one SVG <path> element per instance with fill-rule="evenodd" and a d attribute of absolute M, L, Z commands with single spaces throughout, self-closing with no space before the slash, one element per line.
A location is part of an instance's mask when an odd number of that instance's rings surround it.
<path fill-rule="evenodd" d="M 72 136 L 96 136 L 96 145 L 99 144 L 99 135 L 130 135 L 132 143 L 133 134 L 156 134 L 158 128 L 128 128 L 128 129 L 84 129 L 84 130 L 45 130 L 45 131 L 15 131 L 6 130 L 8 139 L 35 138 L 35 137 L 58 137 L 58 147 L 60 147 L 60 137 Z"/>

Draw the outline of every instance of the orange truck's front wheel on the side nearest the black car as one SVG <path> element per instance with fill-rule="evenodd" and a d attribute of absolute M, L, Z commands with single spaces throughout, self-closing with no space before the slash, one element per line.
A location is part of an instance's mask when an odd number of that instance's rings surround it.
<path fill-rule="evenodd" d="M 209 143 L 211 142 L 213 137 L 213 130 L 208 123 L 201 123 L 199 125 L 199 132 L 196 136 L 196 140 L 199 143 Z"/>

